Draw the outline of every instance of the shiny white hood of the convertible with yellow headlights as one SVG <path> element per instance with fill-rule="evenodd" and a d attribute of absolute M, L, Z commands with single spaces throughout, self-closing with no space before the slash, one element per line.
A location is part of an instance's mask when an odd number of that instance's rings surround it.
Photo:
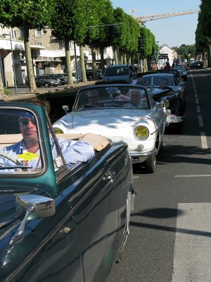
<path fill-rule="evenodd" d="M 91 130 L 95 132 L 102 128 L 121 129 L 126 128 L 129 124 L 134 124 L 143 116 L 147 118 L 150 110 L 140 109 L 98 109 L 89 111 L 74 111 L 63 116 L 53 128 L 65 128 L 75 130 Z M 92 131 L 93 131 L 92 130 Z M 102 133 L 99 133 L 102 134 Z"/>

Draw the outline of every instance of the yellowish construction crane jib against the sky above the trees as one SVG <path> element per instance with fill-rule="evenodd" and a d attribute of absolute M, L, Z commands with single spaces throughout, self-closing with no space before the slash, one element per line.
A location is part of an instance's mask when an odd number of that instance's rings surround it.
<path fill-rule="evenodd" d="M 143 25 L 143 23 L 146 23 L 150 20 L 160 20 L 161 18 L 170 18 L 170 17 L 177 17 L 182 15 L 188 15 L 191 13 L 198 13 L 198 9 L 191 9 L 186 11 L 180 11 L 180 12 L 172 12 L 172 13 L 162 13 L 160 15 L 151 15 L 151 16 L 134 16 L 135 9 L 132 9 L 132 17 L 137 20 L 138 23 Z"/>

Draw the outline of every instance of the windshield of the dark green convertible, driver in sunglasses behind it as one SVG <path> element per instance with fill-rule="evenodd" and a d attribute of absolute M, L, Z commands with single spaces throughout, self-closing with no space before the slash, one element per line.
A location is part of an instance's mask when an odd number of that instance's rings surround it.
<path fill-rule="evenodd" d="M 44 164 L 36 116 L 24 109 L 0 109 L 0 121 L 0 174 L 41 171 Z"/>

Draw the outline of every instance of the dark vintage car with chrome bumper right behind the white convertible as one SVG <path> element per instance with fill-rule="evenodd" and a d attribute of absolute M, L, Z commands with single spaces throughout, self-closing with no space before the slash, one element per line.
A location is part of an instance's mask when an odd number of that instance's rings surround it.
<path fill-rule="evenodd" d="M 180 126 L 185 120 L 185 82 L 179 83 L 171 73 L 155 73 L 136 78 L 132 84 L 146 86 L 156 102 L 165 102 L 168 124 L 177 123 Z"/>

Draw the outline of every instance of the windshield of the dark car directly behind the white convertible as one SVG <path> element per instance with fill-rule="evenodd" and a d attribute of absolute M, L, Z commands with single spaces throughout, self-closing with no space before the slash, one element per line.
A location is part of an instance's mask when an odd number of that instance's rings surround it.
<path fill-rule="evenodd" d="M 134 85 L 143 85 L 145 87 L 174 87 L 174 79 L 166 76 L 142 76 L 141 78 L 135 78 L 132 80 Z"/>

